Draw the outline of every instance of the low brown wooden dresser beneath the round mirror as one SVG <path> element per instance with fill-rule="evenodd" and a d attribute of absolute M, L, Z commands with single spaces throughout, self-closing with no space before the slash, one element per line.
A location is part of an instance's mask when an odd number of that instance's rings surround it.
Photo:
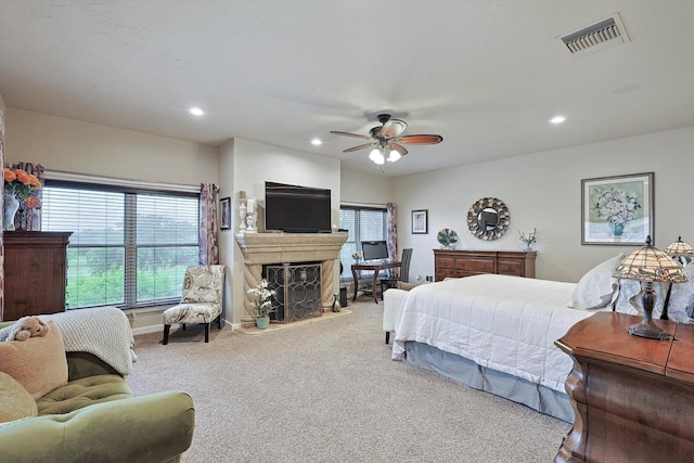
<path fill-rule="evenodd" d="M 535 278 L 537 253 L 513 250 L 434 249 L 435 280 L 471 276 L 479 273 Z"/>

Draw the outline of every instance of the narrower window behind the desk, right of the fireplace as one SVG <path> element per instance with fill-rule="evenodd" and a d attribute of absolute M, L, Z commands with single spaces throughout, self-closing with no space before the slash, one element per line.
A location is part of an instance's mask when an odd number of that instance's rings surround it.
<path fill-rule="evenodd" d="M 351 279 L 352 253 L 361 250 L 362 241 L 387 240 L 387 215 L 385 208 L 342 206 L 339 228 L 349 232 L 339 252 L 343 262 L 342 279 Z"/>

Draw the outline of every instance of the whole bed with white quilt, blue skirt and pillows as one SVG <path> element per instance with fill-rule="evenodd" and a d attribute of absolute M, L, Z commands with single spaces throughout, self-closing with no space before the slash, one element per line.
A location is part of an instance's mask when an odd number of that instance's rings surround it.
<path fill-rule="evenodd" d="M 624 257 L 578 283 L 479 274 L 388 290 L 383 326 L 395 331 L 391 357 L 573 422 L 564 388 L 573 364 L 554 340 L 597 311 L 639 313 L 630 301 L 639 282 L 613 276 Z M 654 284 L 654 319 L 693 321 L 694 265 L 683 271 L 687 283 Z"/>

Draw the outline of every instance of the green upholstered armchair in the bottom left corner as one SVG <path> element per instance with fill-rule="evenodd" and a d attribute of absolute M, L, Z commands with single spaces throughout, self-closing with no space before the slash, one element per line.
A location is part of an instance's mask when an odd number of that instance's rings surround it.
<path fill-rule="evenodd" d="M 0 329 L 9 324 L 0 323 Z M 0 423 L 2 461 L 180 461 L 195 425 L 188 394 L 133 397 L 125 378 L 100 358 L 87 352 L 66 357 L 68 382 L 36 400 L 38 414 Z M 0 408 L 10 400 L 16 403 L 5 393 L 17 384 L 0 375 L 0 401 L 8 401 Z"/>

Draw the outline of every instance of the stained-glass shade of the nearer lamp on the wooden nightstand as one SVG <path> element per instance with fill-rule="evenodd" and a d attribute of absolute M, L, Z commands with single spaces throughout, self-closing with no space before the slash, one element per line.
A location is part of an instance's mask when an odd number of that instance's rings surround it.
<path fill-rule="evenodd" d="M 687 281 L 682 273 L 682 268 L 674 259 L 651 245 L 651 236 L 646 239 L 646 246 L 624 258 L 613 276 L 650 282 L 684 283 Z"/>

